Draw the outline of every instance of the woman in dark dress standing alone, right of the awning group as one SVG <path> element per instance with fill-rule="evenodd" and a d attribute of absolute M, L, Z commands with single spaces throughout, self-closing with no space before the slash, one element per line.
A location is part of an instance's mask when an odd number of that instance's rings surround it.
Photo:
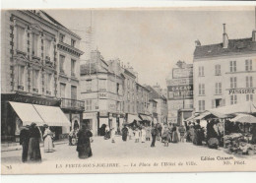
<path fill-rule="evenodd" d="M 88 158 L 93 155 L 90 138 L 93 137 L 93 133 L 90 131 L 87 125 L 83 124 L 78 134 L 77 152 L 79 158 Z"/>

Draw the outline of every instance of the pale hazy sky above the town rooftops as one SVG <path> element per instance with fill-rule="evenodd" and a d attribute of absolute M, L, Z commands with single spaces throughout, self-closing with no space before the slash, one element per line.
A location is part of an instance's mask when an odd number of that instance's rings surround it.
<path fill-rule="evenodd" d="M 193 63 L 195 40 L 220 43 L 223 24 L 230 39 L 251 37 L 254 7 L 46 10 L 66 28 L 82 37 L 80 49 L 88 59 L 86 30 L 92 24 L 94 43 L 105 60 L 119 58 L 139 73 L 139 83 L 166 88 L 178 60 Z M 92 20 L 92 21 L 91 21 Z"/>

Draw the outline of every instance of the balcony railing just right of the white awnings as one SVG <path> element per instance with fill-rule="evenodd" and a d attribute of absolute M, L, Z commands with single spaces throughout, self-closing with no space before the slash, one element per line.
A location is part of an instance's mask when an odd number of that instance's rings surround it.
<path fill-rule="evenodd" d="M 85 110 L 85 101 L 71 99 L 71 98 L 61 98 L 61 108 L 69 108 L 74 110 Z"/>

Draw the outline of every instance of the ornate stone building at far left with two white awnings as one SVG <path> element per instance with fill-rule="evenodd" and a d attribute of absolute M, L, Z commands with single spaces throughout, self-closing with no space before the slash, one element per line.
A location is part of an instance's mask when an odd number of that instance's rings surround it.
<path fill-rule="evenodd" d="M 58 35 L 75 33 L 39 10 L 1 11 L 1 16 L 2 140 L 19 141 L 21 126 L 32 122 L 48 124 L 62 138 L 71 124 L 60 109 Z M 77 53 L 79 63 L 83 52 Z"/>

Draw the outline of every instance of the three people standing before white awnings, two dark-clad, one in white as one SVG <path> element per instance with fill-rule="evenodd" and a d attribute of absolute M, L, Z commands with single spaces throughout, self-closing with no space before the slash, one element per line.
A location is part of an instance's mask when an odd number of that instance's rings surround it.
<path fill-rule="evenodd" d="M 41 152 L 40 152 L 40 142 L 43 141 L 44 152 L 54 152 L 52 138 L 54 138 L 54 133 L 52 133 L 47 125 L 43 126 L 44 132 L 41 133 L 39 127 L 35 123 L 31 125 L 26 125 L 20 134 L 20 145 L 23 147 L 22 161 L 23 162 L 40 162 Z"/>

